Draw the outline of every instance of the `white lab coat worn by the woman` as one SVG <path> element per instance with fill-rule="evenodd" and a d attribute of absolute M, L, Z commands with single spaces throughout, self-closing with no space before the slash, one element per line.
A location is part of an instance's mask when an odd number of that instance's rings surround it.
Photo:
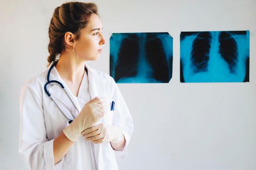
<path fill-rule="evenodd" d="M 133 132 L 133 120 L 114 79 L 101 71 L 89 68 L 87 64 L 85 67 L 88 69 L 89 87 L 85 89 L 88 81 L 85 79 L 87 76 L 83 76 L 77 99 L 55 67 L 51 71 L 50 80 L 58 80 L 65 86 L 79 110 L 88 102 L 88 99 L 85 99 L 85 93 L 88 91 L 91 98 L 105 96 L 110 101 L 114 101 L 115 110 L 106 114 L 98 123 L 120 127 L 126 144 L 123 151 L 116 151 L 111 147 L 110 142 L 94 144 L 80 136 L 65 156 L 54 165 L 53 140 L 69 124 L 44 91 L 50 66 L 46 71 L 27 81 L 21 88 L 19 142 L 21 157 L 32 170 L 118 170 L 116 157 L 122 160 L 127 156 L 127 146 Z M 48 85 L 47 89 L 67 116 L 72 118 L 73 114 L 77 117 L 78 113 L 74 105 L 59 85 Z"/>

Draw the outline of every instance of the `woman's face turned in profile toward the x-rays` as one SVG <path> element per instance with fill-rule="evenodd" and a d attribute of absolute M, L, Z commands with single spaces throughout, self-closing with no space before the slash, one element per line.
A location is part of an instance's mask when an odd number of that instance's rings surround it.
<path fill-rule="evenodd" d="M 75 51 L 82 60 L 98 59 L 105 44 L 102 35 L 102 24 L 96 14 L 90 16 L 87 26 L 80 31 L 79 40 L 75 43 Z"/>

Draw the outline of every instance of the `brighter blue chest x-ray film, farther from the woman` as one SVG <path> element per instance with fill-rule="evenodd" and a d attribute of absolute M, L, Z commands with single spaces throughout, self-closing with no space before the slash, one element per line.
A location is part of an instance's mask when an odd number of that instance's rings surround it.
<path fill-rule="evenodd" d="M 180 82 L 249 82 L 249 31 L 181 32 Z"/>

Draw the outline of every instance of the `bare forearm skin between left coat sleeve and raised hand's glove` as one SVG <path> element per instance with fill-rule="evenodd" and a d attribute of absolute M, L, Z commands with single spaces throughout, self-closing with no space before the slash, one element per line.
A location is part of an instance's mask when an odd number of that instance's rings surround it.
<path fill-rule="evenodd" d="M 59 160 L 68 152 L 68 150 L 74 144 L 73 141 L 69 140 L 63 132 L 56 137 L 53 141 L 53 155 L 54 164 L 58 163 Z"/>

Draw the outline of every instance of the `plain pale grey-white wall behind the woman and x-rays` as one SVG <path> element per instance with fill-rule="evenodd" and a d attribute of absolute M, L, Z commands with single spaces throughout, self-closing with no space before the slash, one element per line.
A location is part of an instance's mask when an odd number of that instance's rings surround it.
<path fill-rule="evenodd" d="M 0 166 L 18 153 L 21 85 L 46 69 L 48 26 L 62 0 L 0 1 Z M 109 74 L 112 33 L 168 32 L 169 84 L 118 84 L 134 120 L 120 170 L 256 170 L 256 0 L 95 0 L 106 44 L 89 66 Z M 179 82 L 181 31 L 250 30 L 250 83 Z"/>

